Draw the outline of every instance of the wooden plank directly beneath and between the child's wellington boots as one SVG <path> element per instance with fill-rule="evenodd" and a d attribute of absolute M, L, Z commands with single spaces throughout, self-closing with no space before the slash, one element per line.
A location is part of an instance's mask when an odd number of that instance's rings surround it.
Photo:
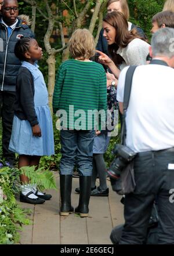
<path fill-rule="evenodd" d="M 71 204 L 77 207 L 79 194 L 74 190 L 79 186 L 79 179 L 73 178 Z M 60 241 L 61 244 L 88 244 L 86 218 L 80 218 L 77 214 L 68 217 L 60 217 Z"/>

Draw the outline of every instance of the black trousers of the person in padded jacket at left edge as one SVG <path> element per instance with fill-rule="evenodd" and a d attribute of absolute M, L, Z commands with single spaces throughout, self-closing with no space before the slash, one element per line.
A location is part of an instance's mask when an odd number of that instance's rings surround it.
<path fill-rule="evenodd" d="M 9 150 L 12 134 L 15 92 L 0 91 L 0 116 L 2 118 L 2 152 L 6 161 L 13 163 L 15 154 Z"/>

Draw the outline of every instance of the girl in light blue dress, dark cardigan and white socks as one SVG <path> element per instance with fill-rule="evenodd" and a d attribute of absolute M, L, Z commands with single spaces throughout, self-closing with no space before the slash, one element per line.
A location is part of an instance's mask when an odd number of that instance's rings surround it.
<path fill-rule="evenodd" d="M 55 153 L 48 91 L 44 77 L 36 64 L 36 61 L 42 58 L 42 48 L 35 39 L 26 37 L 16 43 L 14 53 L 22 64 L 17 76 L 9 149 L 19 154 L 19 168 L 37 168 L 41 156 Z M 36 185 L 30 185 L 27 176 L 20 175 L 20 181 L 20 201 L 40 204 L 52 197 L 38 192 Z"/>

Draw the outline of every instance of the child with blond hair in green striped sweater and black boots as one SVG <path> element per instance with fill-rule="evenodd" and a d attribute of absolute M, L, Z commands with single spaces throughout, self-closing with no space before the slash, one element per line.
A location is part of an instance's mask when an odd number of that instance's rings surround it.
<path fill-rule="evenodd" d="M 53 111 L 61 116 L 60 215 L 74 211 L 71 188 L 74 165 L 79 172 L 79 204 L 75 212 L 88 217 L 92 176 L 93 140 L 96 129 L 106 120 L 106 73 L 101 64 L 89 60 L 95 54 L 95 42 L 86 29 L 76 30 L 70 39 L 73 59 L 62 63 L 53 93 Z M 58 111 L 57 111 L 58 110 Z M 95 115 L 103 116 L 96 121 Z M 97 128 L 97 125 L 99 127 Z"/>

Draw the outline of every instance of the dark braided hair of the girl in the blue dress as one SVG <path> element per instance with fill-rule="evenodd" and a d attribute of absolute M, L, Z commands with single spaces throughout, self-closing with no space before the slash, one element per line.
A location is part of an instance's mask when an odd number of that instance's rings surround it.
<path fill-rule="evenodd" d="M 26 60 L 24 54 L 28 51 L 30 47 L 30 41 L 33 38 L 31 37 L 21 37 L 20 40 L 17 41 L 16 45 L 14 46 L 14 54 L 19 60 Z"/>

